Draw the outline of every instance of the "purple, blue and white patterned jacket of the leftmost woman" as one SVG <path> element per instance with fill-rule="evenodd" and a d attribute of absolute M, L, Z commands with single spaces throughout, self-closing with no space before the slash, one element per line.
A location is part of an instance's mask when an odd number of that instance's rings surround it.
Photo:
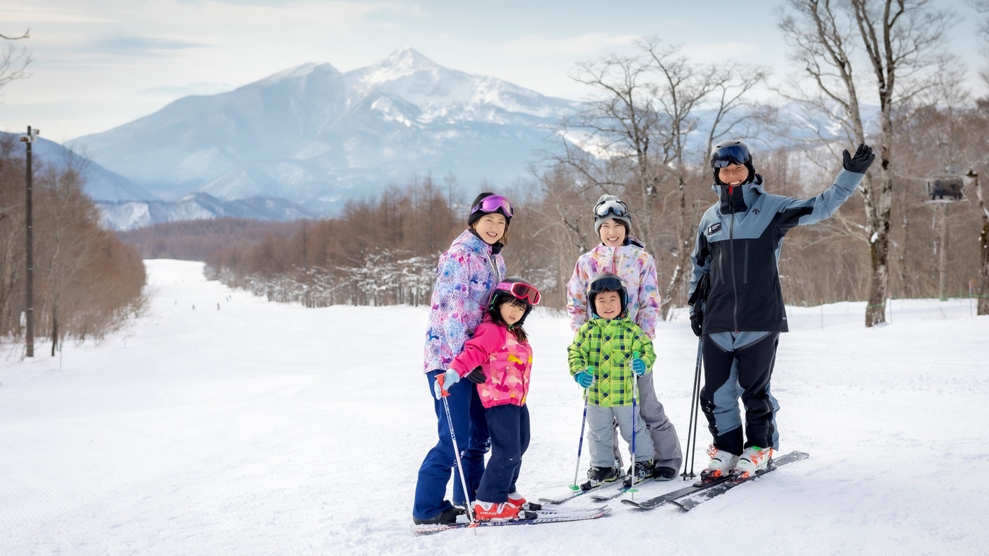
<path fill-rule="evenodd" d="M 499 250 L 466 230 L 439 256 L 423 372 L 450 368 L 454 355 L 464 349 L 464 342 L 481 324 L 494 286 L 504 277 L 504 259 Z"/>

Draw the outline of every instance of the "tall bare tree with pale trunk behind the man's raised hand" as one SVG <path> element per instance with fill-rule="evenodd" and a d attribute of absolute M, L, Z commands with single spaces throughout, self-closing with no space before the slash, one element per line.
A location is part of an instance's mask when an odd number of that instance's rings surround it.
<path fill-rule="evenodd" d="M 930 0 L 787 0 L 779 27 L 794 47 L 792 58 L 816 85 L 803 100 L 841 111 L 846 136 L 865 142 L 862 99 L 879 106 L 878 178 L 866 175 L 864 232 L 870 249 L 871 279 L 865 325 L 884 323 L 889 282 L 889 234 L 896 158 L 892 150 L 898 105 L 910 103 L 937 82 L 944 67 L 944 33 L 954 16 Z M 859 75 L 857 72 L 860 72 Z M 859 91 L 871 74 L 871 96 Z"/>

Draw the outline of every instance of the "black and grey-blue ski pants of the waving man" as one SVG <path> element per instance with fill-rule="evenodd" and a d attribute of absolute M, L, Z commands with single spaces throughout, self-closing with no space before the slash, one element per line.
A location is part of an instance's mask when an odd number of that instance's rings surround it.
<path fill-rule="evenodd" d="M 750 446 L 777 449 L 775 414 L 779 405 L 769 392 L 769 380 L 776 362 L 779 332 L 730 348 L 709 334 L 703 337 L 704 388 L 700 391 L 700 407 L 707 417 L 714 447 L 736 455 Z M 720 339 L 729 342 L 736 338 L 723 332 Z M 745 406 L 744 435 L 739 398 Z"/>

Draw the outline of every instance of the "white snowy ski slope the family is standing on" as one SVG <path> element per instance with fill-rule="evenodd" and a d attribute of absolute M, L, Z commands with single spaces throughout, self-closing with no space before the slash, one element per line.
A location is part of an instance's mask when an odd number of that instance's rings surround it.
<path fill-rule="evenodd" d="M 416 537 L 436 426 L 425 310 L 308 310 L 199 263 L 147 266 L 151 309 L 126 332 L 0 360 L 0 553 L 989 552 L 989 317 L 968 300 L 893 301 L 871 329 L 863 304 L 792 308 L 773 392 L 782 451 L 811 459 L 696 510 Z M 526 328 L 534 498 L 573 480 L 582 403 L 566 321 L 537 311 Z M 657 392 L 683 441 L 696 345 L 685 321 L 661 324 Z"/>

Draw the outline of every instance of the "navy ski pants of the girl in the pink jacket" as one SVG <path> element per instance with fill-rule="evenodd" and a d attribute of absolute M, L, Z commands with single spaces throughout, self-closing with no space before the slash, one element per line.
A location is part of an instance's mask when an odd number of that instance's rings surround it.
<path fill-rule="evenodd" d="M 485 410 L 492 436 L 492 457 L 478 487 L 478 500 L 508 502 L 522 468 L 522 454 L 529 449 L 529 409 L 525 406 L 494 406 Z"/>

